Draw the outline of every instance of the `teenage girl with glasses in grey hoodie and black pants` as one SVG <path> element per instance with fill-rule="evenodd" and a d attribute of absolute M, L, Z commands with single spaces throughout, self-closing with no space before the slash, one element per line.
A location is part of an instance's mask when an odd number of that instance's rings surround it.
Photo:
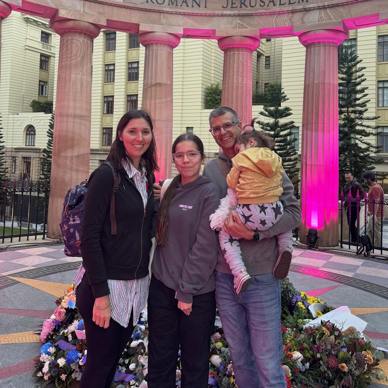
<path fill-rule="evenodd" d="M 207 388 L 218 256 L 209 216 L 218 207 L 219 190 L 199 175 L 204 146 L 198 136 L 178 136 L 172 156 L 179 175 L 161 200 L 148 299 L 148 386 L 175 386 L 180 345 L 181 387 Z"/>

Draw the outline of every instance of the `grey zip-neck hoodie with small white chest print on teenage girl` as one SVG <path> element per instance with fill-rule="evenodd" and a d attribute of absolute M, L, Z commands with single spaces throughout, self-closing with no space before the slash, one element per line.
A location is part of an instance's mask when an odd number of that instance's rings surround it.
<path fill-rule="evenodd" d="M 192 303 L 193 295 L 215 288 L 218 239 L 209 216 L 219 202 L 217 186 L 204 176 L 178 186 L 170 202 L 167 243 L 155 249 L 152 274 L 176 290 L 179 301 Z"/>

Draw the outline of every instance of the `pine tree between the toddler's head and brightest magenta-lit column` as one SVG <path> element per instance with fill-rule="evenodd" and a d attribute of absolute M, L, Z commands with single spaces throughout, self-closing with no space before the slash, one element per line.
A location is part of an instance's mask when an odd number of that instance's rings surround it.
<path fill-rule="evenodd" d="M 292 115 L 291 108 L 282 107 L 281 104 L 288 101 L 287 96 L 283 92 L 280 83 L 272 84 L 273 86 L 267 89 L 268 103 L 264 106 L 261 116 L 272 119 L 272 121 L 256 121 L 261 129 L 275 140 L 274 151 L 280 156 L 284 171 L 293 181 L 297 188 L 299 182 L 298 153 L 295 149 L 293 133 L 291 129 L 295 128 L 294 121 L 281 122 L 281 119 Z M 272 107 L 270 104 L 273 104 Z"/>

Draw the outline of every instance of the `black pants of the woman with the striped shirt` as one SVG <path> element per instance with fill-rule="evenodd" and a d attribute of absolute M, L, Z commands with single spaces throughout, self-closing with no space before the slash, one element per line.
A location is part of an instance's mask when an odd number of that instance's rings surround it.
<path fill-rule="evenodd" d="M 117 363 L 129 342 L 133 317 L 128 327 L 123 327 L 112 318 L 104 329 L 92 321 L 94 298 L 86 275 L 77 287 L 77 308 L 85 324 L 87 357 L 79 388 L 110 388 Z"/>

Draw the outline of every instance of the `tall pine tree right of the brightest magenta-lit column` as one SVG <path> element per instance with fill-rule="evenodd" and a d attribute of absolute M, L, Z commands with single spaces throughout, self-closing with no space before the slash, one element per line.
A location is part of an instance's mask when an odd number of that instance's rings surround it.
<path fill-rule="evenodd" d="M 375 164 L 382 163 L 375 160 L 371 154 L 378 151 L 378 147 L 367 140 L 376 135 L 377 127 L 373 122 L 379 116 L 364 116 L 368 111 L 370 100 L 366 97 L 367 86 L 362 86 L 366 78 L 362 71 L 365 66 L 358 58 L 354 46 L 340 46 L 341 55 L 338 57 L 338 116 L 339 116 L 339 178 L 340 187 L 344 185 L 344 173 L 353 172 L 354 177 L 362 182 L 364 171 L 373 170 Z"/>

